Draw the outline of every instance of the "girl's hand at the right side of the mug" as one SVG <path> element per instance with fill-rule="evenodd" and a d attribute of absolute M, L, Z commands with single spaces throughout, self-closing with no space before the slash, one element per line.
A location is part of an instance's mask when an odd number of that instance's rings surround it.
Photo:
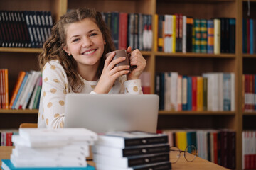
<path fill-rule="evenodd" d="M 146 60 L 138 49 L 132 51 L 132 48 L 128 47 L 127 53 L 131 53 L 131 57 L 129 58 L 131 67 L 136 66 L 132 72 L 127 74 L 127 80 L 139 79 L 140 74 L 142 74 L 146 67 Z"/>

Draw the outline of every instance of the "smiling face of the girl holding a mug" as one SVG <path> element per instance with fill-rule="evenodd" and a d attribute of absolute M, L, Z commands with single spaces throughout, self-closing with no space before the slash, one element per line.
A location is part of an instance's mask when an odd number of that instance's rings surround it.
<path fill-rule="evenodd" d="M 66 45 L 63 47 L 72 55 L 80 67 L 98 67 L 104 52 L 105 40 L 97 24 L 90 18 L 70 23 L 66 28 Z"/>

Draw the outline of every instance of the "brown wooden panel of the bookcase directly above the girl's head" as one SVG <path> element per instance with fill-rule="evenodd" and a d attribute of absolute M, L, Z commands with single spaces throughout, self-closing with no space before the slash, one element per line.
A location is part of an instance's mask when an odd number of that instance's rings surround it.
<path fill-rule="evenodd" d="M 143 5 L 142 5 L 143 4 Z M 149 0 L 132 0 L 132 1 L 117 1 L 117 0 L 73 0 L 68 1 L 68 9 L 74 8 L 95 8 L 97 11 L 109 12 L 118 11 L 126 13 L 145 13 L 152 14 L 154 9 L 152 1 Z"/>

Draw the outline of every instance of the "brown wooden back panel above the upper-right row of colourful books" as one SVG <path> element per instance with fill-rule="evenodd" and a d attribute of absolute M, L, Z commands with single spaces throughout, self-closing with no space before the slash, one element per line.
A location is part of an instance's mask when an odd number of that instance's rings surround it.
<path fill-rule="evenodd" d="M 158 1 L 156 13 L 182 13 L 194 18 L 236 17 L 235 1 Z"/>

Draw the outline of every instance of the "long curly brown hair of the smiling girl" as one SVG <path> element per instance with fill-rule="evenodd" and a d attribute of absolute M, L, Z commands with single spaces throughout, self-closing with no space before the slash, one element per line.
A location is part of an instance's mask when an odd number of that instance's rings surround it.
<path fill-rule="evenodd" d="M 58 60 L 63 66 L 67 76 L 68 81 L 70 82 L 71 89 L 74 92 L 78 92 L 77 89 L 83 85 L 82 80 L 78 76 L 77 63 L 72 55 L 68 55 L 65 50 L 63 50 L 63 45 L 66 45 L 66 26 L 70 23 L 75 23 L 82 21 L 85 18 L 90 18 L 94 21 L 98 28 L 100 29 L 103 39 L 106 42 L 104 47 L 104 52 L 100 59 L 100 65 L 98 69 L 98 74 L 102 73 L 102 69 L 105 63 L 105 55 L 107 52 L 114 51 L 114 43 L 112 42 L 111 33 L 107 27 L 105 21 L 102 18 L 100 12 L 95 11 L 94 9 L 89 8 L 79 8 L 71 10 L 65 15 L 60 17 L 60 20 L 55 23 L 51 30 L 51 36 L 43 44 L 43 52 L 38 57 L 39 67 L 43 69 L 43 66 L 50 60 Z"/>

